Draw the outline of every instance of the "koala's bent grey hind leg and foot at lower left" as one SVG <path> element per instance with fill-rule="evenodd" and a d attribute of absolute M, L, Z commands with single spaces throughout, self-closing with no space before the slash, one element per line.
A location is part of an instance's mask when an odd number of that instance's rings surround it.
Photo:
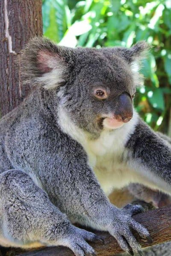
<path fill-rule="evenodd" d="M 0 174 L 0 223 L 0 244 L 5 247 L 63 245 L 83 256 L 94 253 L 86 241 L 99 239 L 73 226 L 47 193 L 19 170 Z"/>

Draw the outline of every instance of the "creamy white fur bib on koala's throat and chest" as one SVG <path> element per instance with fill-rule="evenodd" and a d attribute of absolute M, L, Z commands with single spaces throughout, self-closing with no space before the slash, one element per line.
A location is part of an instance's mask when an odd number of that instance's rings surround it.
<path fill-rule="evenodd" d="M 139 181 L 139 175 L 127 167 L 124 157 L 127 154 L 125 143 L 135 129 L 136 112 L 129 123 L 116 130 L 103 130 L 97 140 L 88 136 L 59 109 L 59 124 L 65 133 L 77 140 L 88 155 L 88 164 L 94 170 L 104 192 L 109 195 L 113 188 L 121 188 L 130 182 Z"/>

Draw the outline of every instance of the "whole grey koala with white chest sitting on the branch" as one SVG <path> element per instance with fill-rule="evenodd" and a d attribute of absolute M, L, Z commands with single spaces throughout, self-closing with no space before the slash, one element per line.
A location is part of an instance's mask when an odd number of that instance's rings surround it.
<path fill-rule="evenodd" d="M 132 218 L 143 208 L 107 198 L 130 183 L 171 194 L 171 147 L 133 108 L 147 48 L 26 45 L 21 75 L 33 90 L 0 120 L 2 246 L 94 254 L 87 242 L 101 238 L 74 223 L 109 232 L 130 255 L 142 254 L 132 230 L 151 242 Z"/>

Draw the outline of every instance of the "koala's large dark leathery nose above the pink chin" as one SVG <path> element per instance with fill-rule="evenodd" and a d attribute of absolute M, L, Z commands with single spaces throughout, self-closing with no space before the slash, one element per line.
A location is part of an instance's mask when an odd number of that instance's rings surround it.
<path fill-rule="evenodd" d="M 118 96 L 117 109 L 115 111 L 115 118 L 127 123 L 133 117 L 133 102 L 128 93 L 122 93 Z"/>

